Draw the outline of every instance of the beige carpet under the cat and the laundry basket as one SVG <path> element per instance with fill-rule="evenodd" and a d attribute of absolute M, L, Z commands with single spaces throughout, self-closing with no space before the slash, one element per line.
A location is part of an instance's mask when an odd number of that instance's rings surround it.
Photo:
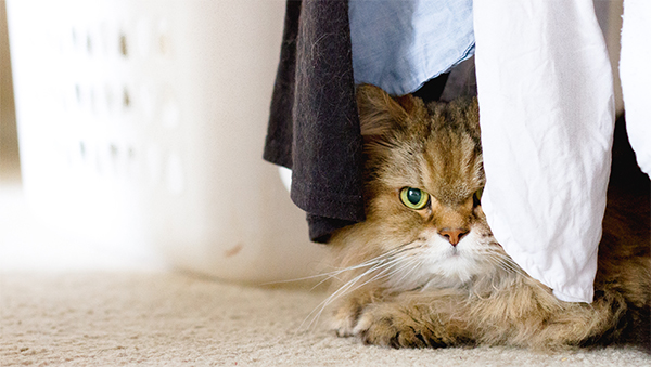
<path fill-rule="evenodd" d="M 650 366 L 629 349 L 390 350 L 301 324 L 319 291 L 167 272 L 0 276 L 2 366 Z M 322 324 L 322 323 L 321 323 Z"/>

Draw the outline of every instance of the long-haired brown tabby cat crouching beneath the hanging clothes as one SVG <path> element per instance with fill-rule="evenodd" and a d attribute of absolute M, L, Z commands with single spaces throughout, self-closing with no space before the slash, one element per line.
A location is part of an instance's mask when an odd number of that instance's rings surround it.
<path fill-rule="evenodd" d="M 331 240 L 347 270 L 332 297 L 339 336 L 394 348 L 649 345 L 649 223 L 607 213 L 595 301 L 562 302 L 486 223 L 476 100 L 425 106 L 372 86 L 357 97 L 367 221 Z"/>

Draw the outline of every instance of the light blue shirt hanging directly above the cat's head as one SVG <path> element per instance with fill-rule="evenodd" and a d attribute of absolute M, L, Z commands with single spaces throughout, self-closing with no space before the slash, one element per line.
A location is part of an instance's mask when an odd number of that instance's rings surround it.
<path fill-rule="evenodd" d="M 356 83 L 403 95 L 474 54 L 472 0 L 350 0 L 348 6 Z"/>

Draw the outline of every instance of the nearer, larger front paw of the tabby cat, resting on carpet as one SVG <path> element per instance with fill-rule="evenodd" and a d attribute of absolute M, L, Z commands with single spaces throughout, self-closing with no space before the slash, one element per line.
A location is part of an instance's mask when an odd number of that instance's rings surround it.
<path fill-rule="evenodd" d="M 367 306 L 353 329 L 363 343 L 391 348 L 435 348 L 446 343 L 432 325 L 408 315 L 399 306 L 380 303 Z"/>

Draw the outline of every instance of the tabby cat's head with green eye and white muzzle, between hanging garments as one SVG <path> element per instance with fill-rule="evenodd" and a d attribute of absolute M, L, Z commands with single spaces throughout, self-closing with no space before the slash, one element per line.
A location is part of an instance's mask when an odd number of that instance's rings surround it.
<path fill-rule="evenodd" d="M 476 101 L 425 106 L 362 86 L 368 257 L 394 253 L 395 287 L 461 285 L 503 258 L 481 207 L 485 179 Z"/>

